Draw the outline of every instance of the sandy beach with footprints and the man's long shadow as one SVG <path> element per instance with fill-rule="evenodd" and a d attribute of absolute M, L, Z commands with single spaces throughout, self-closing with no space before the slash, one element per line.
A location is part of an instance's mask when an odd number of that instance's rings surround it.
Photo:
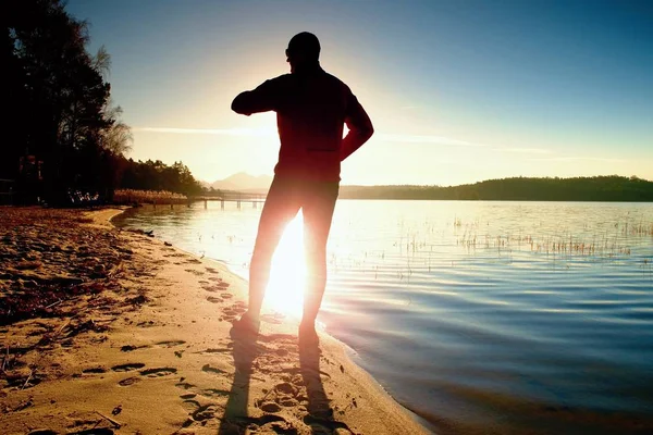
<path fill-rule="evenodd" d="M 428 433 L 332 337 L 234 334 L 247 283 L 120 212 L 0 209 L 0 433 Z"/>

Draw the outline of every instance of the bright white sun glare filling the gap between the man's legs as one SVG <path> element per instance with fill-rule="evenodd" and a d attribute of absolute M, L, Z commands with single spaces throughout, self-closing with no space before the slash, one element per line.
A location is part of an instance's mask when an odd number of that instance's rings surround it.
<path fill-rule="evenodd" d="M 272 257 L 272 270 L 264 306 L 300 319 L 305 281 L 304 219 L 299 212 L 286 227 L 274 257 Z"/>

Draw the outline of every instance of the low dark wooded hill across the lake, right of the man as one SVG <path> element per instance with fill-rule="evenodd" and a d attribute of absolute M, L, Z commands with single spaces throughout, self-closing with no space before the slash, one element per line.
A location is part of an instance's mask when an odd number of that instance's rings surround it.
<path fill-rule="evenodd" d="M 503 178 L 460 186 L 342 186 L 341 199 L 653 202 L 653 182 L 638 177 Z"/>

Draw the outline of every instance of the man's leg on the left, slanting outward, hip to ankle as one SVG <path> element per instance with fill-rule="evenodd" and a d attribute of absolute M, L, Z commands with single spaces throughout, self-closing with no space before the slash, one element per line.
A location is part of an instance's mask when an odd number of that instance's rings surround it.
<path fill-rule="evenodd" d="M 268 191 L 259 221 L 249 264 L 249 307 L 247 316 L 258 319 L 270 278 L 272 256 L 288 222 L 299 211 L 297 189 L 292 182 L 274 179 Z"/>

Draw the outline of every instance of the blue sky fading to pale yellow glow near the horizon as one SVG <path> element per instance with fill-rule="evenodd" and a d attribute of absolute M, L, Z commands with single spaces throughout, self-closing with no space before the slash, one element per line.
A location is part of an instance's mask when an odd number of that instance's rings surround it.
<path fill-rule="evenodd" d="M 69 0 L 112 59 L 128 157 L 196 178 L 272 174 L 274 113 L 233 98 L 289 72 L 311 32 L 374 136 L 342 183 L 457 185 L 512 176 L 653 179 L 650 0 Z"/>

